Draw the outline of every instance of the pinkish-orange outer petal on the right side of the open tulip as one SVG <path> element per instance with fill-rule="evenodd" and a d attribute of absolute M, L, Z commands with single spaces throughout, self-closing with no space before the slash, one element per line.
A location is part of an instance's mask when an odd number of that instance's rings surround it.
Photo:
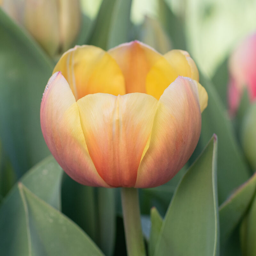
<path fill-rule="evenodd" d="M 197 84 L 179 76 L 160 97 L 135 187 L 156 187 L 170 180 L 188 161 L 200 132 Z"/>

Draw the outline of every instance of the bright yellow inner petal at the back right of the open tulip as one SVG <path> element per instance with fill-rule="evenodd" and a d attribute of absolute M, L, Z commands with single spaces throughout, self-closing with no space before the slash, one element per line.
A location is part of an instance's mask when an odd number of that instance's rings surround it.
<path fill-rule="evenodd" d="M 199 79 L 196 64 L 188 52 L 172 50 L 164 54 L 149 70 L 146 78 L 147 93 L 159 99 L 178 76 L 187 76 L 197 81 Z"/>

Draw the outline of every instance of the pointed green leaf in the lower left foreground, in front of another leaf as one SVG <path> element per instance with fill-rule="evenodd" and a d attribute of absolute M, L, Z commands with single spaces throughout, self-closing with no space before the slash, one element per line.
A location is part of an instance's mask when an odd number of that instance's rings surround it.
<path fill-rule="evenodd" d="M 28 255 L 103 255 L 75 223 L 21 183 L 18 186 L 26 217 Z"/>

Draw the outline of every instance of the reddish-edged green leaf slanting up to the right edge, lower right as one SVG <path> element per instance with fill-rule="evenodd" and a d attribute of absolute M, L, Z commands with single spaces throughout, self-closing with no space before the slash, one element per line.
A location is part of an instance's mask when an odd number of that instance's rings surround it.
<path fill-rule="evenodd" d="M 249 204 L 252 201 L 256 191 L 256 173 L 252 178 L 246 181 L 233 194 L 221 204 L 220 212 L 220 249 L 225 250 L 227 242 L 232 235 L 232 232 L 241 221 L 245 212 L 248 210 Z M 221 253 L 221 255 L 225 255 Z"/>

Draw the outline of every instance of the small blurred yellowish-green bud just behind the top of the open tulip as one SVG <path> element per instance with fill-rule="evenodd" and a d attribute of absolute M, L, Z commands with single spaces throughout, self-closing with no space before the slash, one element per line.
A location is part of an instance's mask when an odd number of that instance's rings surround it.
<path fill-rule="evenodd" d="M 158 20 L 145 16 L 140 33 L 140 40 L 161 53 L 172 49 L 172 43 Z"/>

